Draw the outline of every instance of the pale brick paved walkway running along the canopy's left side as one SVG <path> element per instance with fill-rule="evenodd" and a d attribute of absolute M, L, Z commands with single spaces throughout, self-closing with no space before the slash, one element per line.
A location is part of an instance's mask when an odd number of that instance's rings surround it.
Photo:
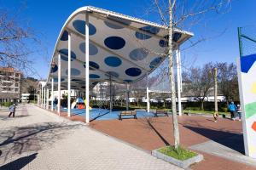
<path fill-rule="evenodd" d="M 0 169 L 179 169 L 36 106 L 7 116 L 0 110 Z"/>

